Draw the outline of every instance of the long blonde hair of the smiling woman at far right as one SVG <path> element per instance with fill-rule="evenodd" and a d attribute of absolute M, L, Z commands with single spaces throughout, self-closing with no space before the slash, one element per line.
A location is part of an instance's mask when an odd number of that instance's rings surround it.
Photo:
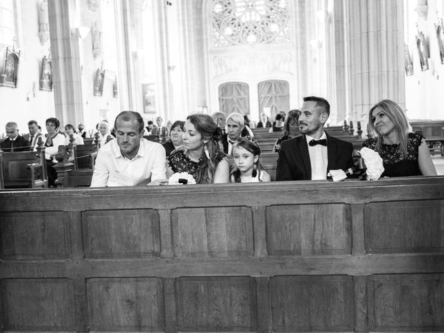
<path fill-rule="evenodd" d="M 395 131 L 398 135 L 398 139 L 400 140 L 400 153 L 402 156 L 407 155 L 407 133 L 409 131 L 409 123 L 400 106 L 389 99 L 379 101 L 373 105 L 373 108 L 371 108 L 370 112 L 368 112 L 368 124 L 370 125 L 370 129 L 372 130 L 373 134 L 376 136 L 376 151 L 379 153 L 382 146 L 382 135 L 378 133 L 377 128 L 375 127 L 375 122 L 373 121 L 373 110 L 376 108 L 382 110 L 388 119 L 393 122 L 393 125 L 395 125 Z"/>

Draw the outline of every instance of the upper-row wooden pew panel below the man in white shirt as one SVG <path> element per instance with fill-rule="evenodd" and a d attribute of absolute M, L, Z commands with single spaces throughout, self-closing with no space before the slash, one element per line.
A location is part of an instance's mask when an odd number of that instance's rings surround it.
<path fill-rule="evenodd" d="M 153 210 L 83 213 L 85 257 L 160 256 L 159 216 Z"/>

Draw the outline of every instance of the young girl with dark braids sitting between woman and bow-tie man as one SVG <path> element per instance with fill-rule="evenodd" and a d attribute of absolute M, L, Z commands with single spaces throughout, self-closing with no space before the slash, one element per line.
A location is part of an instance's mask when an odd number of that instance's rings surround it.
<path fill-rule="evenodd" d="M 271 181 L 270 175 L 261 170 L 260 155 L 261 148 L 253 137 L 239 137 L 232 146 L 235 168 L 231 173 L 231 182 Z"/>

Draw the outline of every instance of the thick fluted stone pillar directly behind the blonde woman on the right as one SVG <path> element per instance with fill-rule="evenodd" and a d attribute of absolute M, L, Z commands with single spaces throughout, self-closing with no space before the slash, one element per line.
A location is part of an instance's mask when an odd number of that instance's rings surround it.
<path fill-rule="evenodd" d="M 404 24 L 402 0 L 345 0 L 350 22 L 351 119 L 368 121 L 368 111 L 382 99 L 405 106 Z M 363 127 L 366 133 L 365 127 Z"/>

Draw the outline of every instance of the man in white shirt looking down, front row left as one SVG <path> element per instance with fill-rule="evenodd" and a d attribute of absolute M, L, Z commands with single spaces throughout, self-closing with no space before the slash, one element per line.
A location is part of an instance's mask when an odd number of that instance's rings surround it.
<path fill-rule="evenodd" d="M 116 139 L 100 148 L 91 187 L 147 185 L 166 178 L 165 148 L 144 139 L 139 113 L 121 112 L 114 121 Z"/>

